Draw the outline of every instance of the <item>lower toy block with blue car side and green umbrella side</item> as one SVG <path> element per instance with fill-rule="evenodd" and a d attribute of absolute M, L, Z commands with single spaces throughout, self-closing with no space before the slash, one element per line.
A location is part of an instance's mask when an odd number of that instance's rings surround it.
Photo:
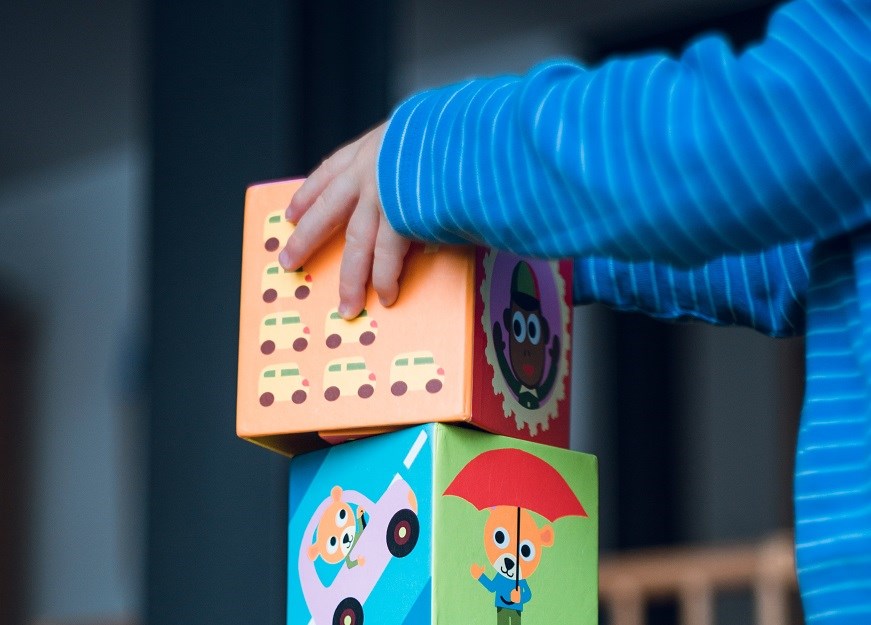
<path fill-rule="evenodd" d="M 594 456 L 440 423 L 298 455 L 287 624 L 595 625 L 597 488 Z"/>

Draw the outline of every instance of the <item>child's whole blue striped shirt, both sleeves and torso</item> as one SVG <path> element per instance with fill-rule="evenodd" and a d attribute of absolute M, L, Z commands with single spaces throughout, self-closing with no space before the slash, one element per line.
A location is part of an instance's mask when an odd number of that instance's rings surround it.
<path fill-rule="evenodd" d="M 575 258 L 578 303 L 806 334 L 805 615 L 871 622 L 871 2 L 795 0 L 741 54 L 707 37 L 420 93 L 378 184 L 405 235 Z"/>

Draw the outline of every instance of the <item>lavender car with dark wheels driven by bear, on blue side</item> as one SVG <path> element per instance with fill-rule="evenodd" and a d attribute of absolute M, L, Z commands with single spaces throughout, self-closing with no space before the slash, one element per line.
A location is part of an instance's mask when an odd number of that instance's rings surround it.
<path fill-rule="evenodd" d="M 342 495 L 348 504 L 365 510 L 368 517 L 351 551 L 364 564 L 353 568 L 336 565 L 340 570 L 326 586 L 318 576 L 308 550 L 315 541 L 319 519 L 332 503 L 331 498 L 326 498 L 309 521 L 299 548 L 300 585 L 315 625 L 362 625 L 363 604 L 384 570 L 394 558 L 410 554 L 420 536 L 416 496 L 398 474 L 377 502 L 353 490 Z"/>

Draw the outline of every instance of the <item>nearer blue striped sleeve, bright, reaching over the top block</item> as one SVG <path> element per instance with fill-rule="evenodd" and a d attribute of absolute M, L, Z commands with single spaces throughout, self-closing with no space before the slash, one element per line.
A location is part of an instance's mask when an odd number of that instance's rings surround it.
<path fill-rule="evenodd" d="M 740 55 L 707 37 L 413 96 L 379 192 L 415 238 L 676 271 L 867 223 L 869 119 L 871 2 L 795 0 Z"/>

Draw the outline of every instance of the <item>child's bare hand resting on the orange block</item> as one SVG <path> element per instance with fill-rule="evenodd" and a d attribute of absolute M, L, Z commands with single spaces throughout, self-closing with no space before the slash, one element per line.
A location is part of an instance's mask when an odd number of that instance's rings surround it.
<path fill-rule="evenodd" d="M 384 306 L 399 295 L 399 274 L 410 241 L 390 226 L 378 198 L 376 170 L 385 124 L 325 160 L 293 196 L 286 211 L 296 224 L 278 260 L 297 269 L 340 228 L 345 252 L 339 271 L 339 313 L 353 319 L 366 302 L 366 284 Z"/>

